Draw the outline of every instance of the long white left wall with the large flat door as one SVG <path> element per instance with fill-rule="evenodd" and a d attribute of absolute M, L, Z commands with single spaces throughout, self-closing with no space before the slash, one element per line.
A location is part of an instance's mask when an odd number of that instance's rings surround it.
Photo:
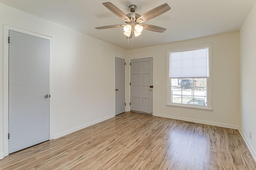
<path fill-rule="evenodd" d="M 4 24 L 53 37 L 53 135 L 114 116 L 114 55 L 125 49 L 0 4 L 0 157 L 3 156 Z M 94 116 L 90 118 L 90 113 Z"/>

